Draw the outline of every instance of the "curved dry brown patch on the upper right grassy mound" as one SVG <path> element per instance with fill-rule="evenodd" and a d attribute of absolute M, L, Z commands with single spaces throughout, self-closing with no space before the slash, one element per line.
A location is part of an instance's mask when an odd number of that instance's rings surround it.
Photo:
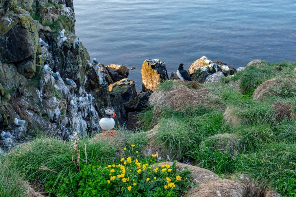
<path fill-rule="evenodd" d="M 271 96 L 273 87 L 279 87 L 280 82 L 275 78 L 269 79 L 266 82 L 260 84 L 253 93 L 253 99 L 263 101 L 266 97 Z"/>

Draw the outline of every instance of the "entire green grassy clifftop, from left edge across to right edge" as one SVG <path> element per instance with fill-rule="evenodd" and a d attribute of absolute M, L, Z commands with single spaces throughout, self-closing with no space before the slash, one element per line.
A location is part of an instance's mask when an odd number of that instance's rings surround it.
<path fill-rule="evenodd" d="M 273 70 L 282 66 L 282 71 Z M 295 77 L 292 72 L 295 63 L 276 63 L 264 66 L 250 66 L 232 78 L 224 78 L 218 85 L 207 85 L 213 96 L 204 105 L 184 110 L 163 108 L 156 120 L 159 133 L 156 134 L 155 146 L 161 147 L 171 158 L 180 161 L 191 159 L 199 167 L 205 167 L 223 175 L 244 174 L 260 181 L 264 186 L 276 189 L 279 193 L 291 196 L 296 192 L 296 123 L 292 120 L 275 118 L 271 102 L 282 100 L 296 106 L 295 84 L 278 88 L 263 102 L 252 99 L 252 93 L 262 82 L 277 78 L 286 82 Z M 227 84 L 239 80 L 241 92 Z M 160 84 L 159 91 L 164 91 L 180 82 L 166 81 Z M 189 87 L 191 88 L 191 87 Z M 208 108 L 211 106 L 211 108 Z M 231 106 L 231 115 L 239 124 L 231 125 L 223 120 L 225 109 Z M 295 109 L 295 108 L 294 108 Z M 144 128 L 151 128 L 153 107 L 140 115 Z M 206 138 L 217 134 L 229 133 L 236 136 L 239 149 L 230 151 L 227 147 L 216 149 L 212 144 L 204 143 Z M 126 135 L 121 133 L 121 141 L 100 142 L 81 139 L 81 163 L 86 163 L 84 144 L 86 145 L 88 164 L 99 165 L 112 162 L 123 152 L 118 152 L 128 144 L 145 144 L 145 134 Z M 11 196 L 19 191 L 20 196 L 28 192 L 24 181 L 38 180 L 44 186 L 51 181 L 59 185 L 63 178 L 75 174 L 72 162 L 70 142 L 57 139 L 40 138 L 24 147 L 15 148 L 12 154 L 0 157 L 0 193 Z M 140 152 L 141 156 L 141 152 Z M 144 155 L 142 155 L 144 157 Z M 40 166 L 48 170 L 39 170 Z M 20 181 L 18 181 L 20 180 Z"/>

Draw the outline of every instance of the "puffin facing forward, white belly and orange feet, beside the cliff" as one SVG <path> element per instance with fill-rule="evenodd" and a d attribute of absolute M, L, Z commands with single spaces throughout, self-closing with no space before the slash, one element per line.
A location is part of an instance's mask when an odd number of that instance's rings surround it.
<path fill-rule="evenodd" d="M 109 131 L 109 130 L 111 130 L 109 134 L 111 136 L 114 136 L 113 128 L 115 126 L 115 121 L 112 117 L 115 117 L 115 112 L 113 108 L 107 107 L 105 110 L 104 116 L 99 121 L 99 125 L 103 130 L 103 136 L 107 134 L 105 133 L 105 131 Z"/>

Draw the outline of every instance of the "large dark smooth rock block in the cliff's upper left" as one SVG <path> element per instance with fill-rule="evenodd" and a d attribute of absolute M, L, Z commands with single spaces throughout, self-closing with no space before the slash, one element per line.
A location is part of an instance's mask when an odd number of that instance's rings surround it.
<path fill-rule="evenodd" d="M 29 12 L 7 12 L 0 18 L 0 46 L 2 63 L 19 62 L 36 54 L 37 22 Z"/>

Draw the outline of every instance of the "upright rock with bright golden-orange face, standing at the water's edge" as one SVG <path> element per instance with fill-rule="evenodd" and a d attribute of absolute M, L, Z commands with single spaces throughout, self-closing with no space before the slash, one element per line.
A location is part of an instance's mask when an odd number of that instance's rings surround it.
<path fill-rule="evenodd" d="M 142 64 L 142 90 L 144 92 L 154 91 L 161 80 L 168 79 L 168 71 L 165 62 L 159 59 L 146 59 Z"/>

